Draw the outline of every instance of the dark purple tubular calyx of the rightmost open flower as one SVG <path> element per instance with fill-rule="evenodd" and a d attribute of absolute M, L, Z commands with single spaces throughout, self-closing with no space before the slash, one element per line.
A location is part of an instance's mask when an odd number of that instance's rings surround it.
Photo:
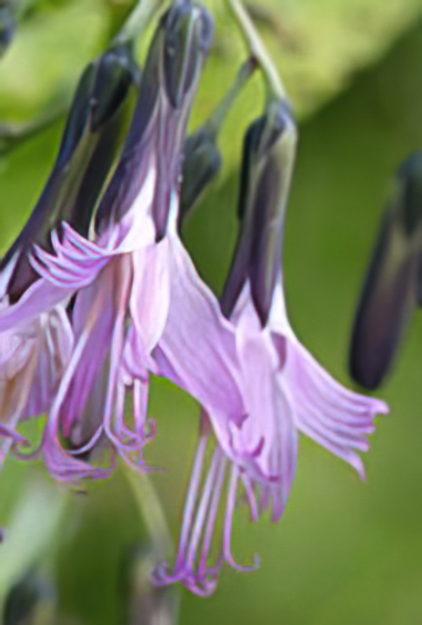
<path fill-rule="evenodd" d="M 221 299 L 227 317 L 249 279 L 256 313 L 266 325 L 281 263 L 295 154 L 292 114 L 285 102 L 273 101 L 246 133 L 238 204 L 240 233 Z"/>

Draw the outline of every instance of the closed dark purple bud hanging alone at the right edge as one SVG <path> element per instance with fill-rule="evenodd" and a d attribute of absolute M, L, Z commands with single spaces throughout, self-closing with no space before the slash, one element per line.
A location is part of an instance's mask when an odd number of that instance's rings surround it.
<path fill-rule="evenodd" d="M 422 152 L 397 171 L 367 270 L 350 345 L 353 379 L 367 389 L 383 381 L 407 322 L 420 302 Z"/>

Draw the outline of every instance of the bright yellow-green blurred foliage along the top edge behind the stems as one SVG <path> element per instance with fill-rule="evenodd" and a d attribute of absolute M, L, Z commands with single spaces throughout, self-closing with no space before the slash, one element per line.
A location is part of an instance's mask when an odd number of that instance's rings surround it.
<path fill-rule="evenodd" d="M 135 0 L 15 0 L 19 26 L 0 65 L 0 120 L 22 121 L 45 114 L 45 107 L 68 103 L 84 64 L 104 49 L 134 4 Z M 236 26 L 226 3 L 206 4 L 217 16 L 218 27 L 204 95 L 197 105 L 201 118 L 215 104 L 210 97 L 215 85 L 228 86 L 245 56 L 239 37 L 233 36 Z M 299 114 L 310 114 L 344 88 L 354 71 L 377 60 L 422 13 L 420 0 L 252 0 L 248 5 L 279 59 Z M 239 109 L 240 116 L 237 111 L 233 117 L 237 124 L 244 119 L 246 123 L 259 98 L 255 81 L 246 110 Z"/>

